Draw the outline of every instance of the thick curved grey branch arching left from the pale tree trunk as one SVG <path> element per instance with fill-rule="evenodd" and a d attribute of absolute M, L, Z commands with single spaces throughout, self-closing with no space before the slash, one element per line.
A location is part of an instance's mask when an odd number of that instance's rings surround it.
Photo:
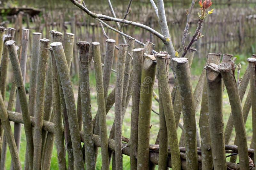
<path fill-rule="evenodd" d="M 105 19 L 107 21 L 120 22 L 120 23 L 124 23 L 124 24 L 128 24 L 128 25 L 132 25 L 132 26 L 137 26 L 137 27 L 143 28 L 143 29 L 149 31 L 150 33 L 153 33 L 154 35 L 156 35 L 165 44 L 169 44 L 169 39 L 168 38 L 166 38 L 161 33 L 158 33 L 156 30 L 150 28 L 149 26 L 146 26 L 144 24 L 140 24 L 140 23 L 137 23 L 137 22 L 132 22 L 132 21 L 129 21 L 129 20 L 125 20 L 125 19 L 113 18 L 113 17 L 109 17 L 107 15 L 96 14 L 96 13 L 93 13 L 92 11 L 89 11 L 87 8 L 85 8 L 82 4 L 78 3 L 77 1 L 75 1 L 75 0 L 70 0 L 70 1 L 73 4 L 75 4 L 77 7 L 82 9 L 84 12 L 86 12 L 86 14 L 88 14 L 92 18 Z"/>

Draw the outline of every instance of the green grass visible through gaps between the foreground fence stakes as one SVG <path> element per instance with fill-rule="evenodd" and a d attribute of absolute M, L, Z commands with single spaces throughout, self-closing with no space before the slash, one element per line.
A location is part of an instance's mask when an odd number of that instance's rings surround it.
<path fill-rule="evenodd" d="M 242 70 L 241 70 L 241 76 L 243 76 L 243 73 L 245 71 L 246 68 L 246 57 L 248 56 L 236 56 L 237 57 L 237 61 L 236 63 L 241 63 L 242 64 Z M 194 63 L 192 64 L 192 71 L 191 71 L 191 75 L 192 75 L 192 84 L 193 84 L 193 88 L 196 87 L 196 83 L 197 80 L 201 74 L 201 71 L 203 69 L 203 65 L 204 65 L 205 61 L 204 59 L 195 59 Z M 90 73 L 90 77 L 91 77 L 91 102 L 92 102 L 92 114 L 95 115 L 97 113 L 97 98 L 96 98 L 96 90 L 95 90 L 95 78 L 94 78 L 94 73 L 91 72 Z M 77 78 L 76 76 L 73 77 L 73 86 L 74 86 L 74 92 L 75 97 L 77 98 Z M 114 86 L 115 84 L 115 73 L 112 74 L 111 76 L 111 85 Z M 27 87 L 28 88 L 28 87 Z M 157 88 L 157 87 L 156 87 Z M 157 92 L 157 91 L 156 91 Z M 247 96 L 247 93 L 245 94 L 245 97 Z M 245 98 L 244 97 L 244 98 Z M 9 98 L 9 91 L 6 94 L 6 101 L 8 101 Z M 244 103 L 243 103 L 244 104 Z M 154 110 L 156 110 L 157 112 L 159 112 L 159 108 L 158 108 L 158 103 L 153 100 L 152 103 L 152 107 L 154 108 Z M 223 122 L 224 122 L 224 128 L 226 126 L 226 122 L 228 121 L 228 117 L 230 114 L 230 105 L 229 105 L 229 101 L 228 101 L 228 94 L 226 92 L 226 90 L 223 93 Z M 200 113 L 200 109 L 197 110 L 196 112 L 196 119 L 197 122 L 199 121 L 199 113 Z M 130 119 L 131 119 L 131 102 L 127 108 L 126 111 L 126 115 L 124 117 L 124 123 L 123 123 L 123 136 L 125 137 L 129 137 L 130 136 Z M 111 126 L 113 124 L 113 120 L 114 120 L 114 107 L 111 108 L 111 110 L 109 111 L 108 115 L 107 115 L 107 125 L 108 125 L 108 133 L 111 129 Z M 249 114 L 248 116 L 248 121 L 245 125 L 246 128 L 246 133 L 247 133 L 247 141 L 248 141 L 248 146 L 250 145 L 251 139 L 252 139 L 252 115 Z M 181 121 L 182 121 L 182 117 L 181 117 Z M 155 143 L 156 140 L 156 136 L 159 130 L 159 116 L 154 114 L 152 112 L 151 114 L 151 124 L 152 124 L 152 128 L 150 129 L 150 143 L 153 144 Z M 12 127 L 13 127 L 13 123 L 12 123 Z M 180 138 L 180 134 L 181 134 L 181 129 L 178 129 L 178 137 Z M 233 131 L 232 133 L 232 138 L 231 138 L 231 142 L 230 144 L 233 144 L 234 142 L 234 138 L 235 138 L 235 132 Z M 26 139 L 25 139 L 25 132 L 24 129 L 22 128 L 22 134 L 21 134 L 21 144 L 20 144 L 20 161 L 22 166 L 24 165 L 24 158 L 25 158 L 25 150 L 26 150 Z M 100 152 L 100 150 L 99 150 Z M 11 164 L 11 156 L 9 151 L 7 151 L 7 159 L 6 159 L 6 169 L 10 169 L 10 164 Z M 101 167 L 101 155 L 98 155 L 98 161 L 97 161 L 97 168 L 96 169 L 100 169 Z M 124 155 L 123 157 L 123 167 L 124 169 L 130 169 L 130 161 L 129 161 L 129 157 Z M 57 162 L 57 153 L 56 153 L 56 147 L 54 145 L 53 148 L 53 152 L 52 152 L 52 163 L 51 163 L 51 169 L 58 169 L 58 162 Z M 112 167 L 110 167 L 110 169 L 112 169 Z"/>

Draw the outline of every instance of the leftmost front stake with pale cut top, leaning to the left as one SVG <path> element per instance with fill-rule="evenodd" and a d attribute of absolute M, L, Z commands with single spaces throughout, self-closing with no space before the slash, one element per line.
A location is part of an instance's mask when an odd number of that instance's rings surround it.
<path fill-rule="evenodd" d="M 34 150 L 33 135 L 32 135 L 31 122 L 29 118 L 30 115 L 28 111 L 28 101 L 27 101 L 24 81 L 23 81 L 22 73 L 20 69 L 19 58 L 16 51 L 15 41 L 10 40 L 10 41 L 7 41 L 5 44 L 7 45 L 7 48 L 8 48 L 15 82 L 18 87 L 17 91 L 19 94 L 18 96 L 20 99 L 21 113 L 22 113 L 22 118 L 24 120 L 24 129 L 25 129 L 25 135 L 26 135 L 26 141 L 27 141 L 29 168 L 33 169 L 33 150 Z"/>

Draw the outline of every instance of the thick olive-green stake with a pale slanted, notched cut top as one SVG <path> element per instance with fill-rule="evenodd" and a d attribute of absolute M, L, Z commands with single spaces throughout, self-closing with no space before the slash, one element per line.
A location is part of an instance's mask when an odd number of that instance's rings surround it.
<path fill-rule="evenodd" d="M 138 166 L 139 170 L 148 169 L 149 159 L 149 131 L 152 107 L 153 85 L 156 74 L 156 58 L 146 55 L 141 71 L 140 106 L 138 120 Z"/>

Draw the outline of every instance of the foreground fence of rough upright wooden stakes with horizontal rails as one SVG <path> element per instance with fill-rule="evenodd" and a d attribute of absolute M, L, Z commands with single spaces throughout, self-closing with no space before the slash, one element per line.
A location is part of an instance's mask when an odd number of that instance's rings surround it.
<path fill-rule="evenodd" d="M 29 30 L 22 30 L 21 52 L 17 54 L 15 29 L 7 32 L 1 27 L 0 52 L 0 119 L 1 169 L 5 166 L 7 144 L 12 156 L 12 168 L 21 169 L 14 129 L 24 124 L 26 134 L 26 169 L 50 169 L 54 142 L 59 169 L 95 169 L 98 148 L 101 148 L 102 169 L 123 168 L 123 154 L 130 156 L 131 169 L 254 169 L 256 121 L 252 119 L 253 137 L 247 147 L 245 122 L 252 107 L 256 117 L 256 55 L 248 58 L 243 79 L 236 81 L 235 58 L 210 53 L 198 80 L 196 89 L 191 85 L 190 66 L 195 48 L 185 57 L 170 58 L 167 52 L 152 53 L 154 44 L 147 41 L 144 48 L 135 48 L 134 39 L 118 47 L 117 70 L 112 70 L 116 41 L 106 41 L 106 55 L 101 61 L 100 43 L 78 41 L 74 34 L 50 31 L 51 41 L 32 33 L 30 90 L 27 100 L 24 76 Z M 5 34 L 6 33 L 6 34 Z M 77 107 L 69 74 L 73 48 L 79 51 L 79 93 Z M 13 70 L 8 106 L 5 107 L 7 64 L 10 58 Z M 175 70 L 176 81 L 171 91 L 169 65 Z M 98 111 L 92 117 L 90 92 L 90 64 L 94 65 Z M 237 65 L 240 72 L 241 65 Z M 111 72 L 116 72 L 116 87 L 108 92 Z M 153 91 L 158 79 L 158 95 Z M 239 78 L 239 74 L 238 74 Z M 241 101 L 250 82 L 250 92 L 242 108 Z M 231 105 L 230 119 L 224 131 L 222 122 L 222 93 L 226 88 Z M 16 105 L 20 111 L 13 112 Z M 156 144 L 149 144 L 152 99 L 159 102 L 160 129 Z M 122 123 L 129 101 L 132 100 L 131 135 L 122 136 Z M 201 102 L 202 101 L 202 102 Z M 201 102 L 199 129 L 195 112 Z M 106 114 L 115 104 L 115 120 L 107 131 Z M 181 107 L 182 106 L 182 107 Z M 51 109 L 52 107 L 52 109 Z M 183 114 L 184 125 L 180 124 Z M 178 139 L 177 129 L 182 128 Z M 235 127 L 236 139 L 228 145 Z M 199 137 L 199 132 L 200 136 Z M 16 143 L 15 143 L 16 142 Z M 24 146 L 23 146 L 24 147 Z M 66 160 L 66 152 L 68 159 Z M 227 155 L 228 154 L 228 155 Z M 236 163 L 239 155 L 239 164 Z M 232 157 L 226 162 L 226 157 Z M 68 167 L 66 166 L 68 162 Z"/>

